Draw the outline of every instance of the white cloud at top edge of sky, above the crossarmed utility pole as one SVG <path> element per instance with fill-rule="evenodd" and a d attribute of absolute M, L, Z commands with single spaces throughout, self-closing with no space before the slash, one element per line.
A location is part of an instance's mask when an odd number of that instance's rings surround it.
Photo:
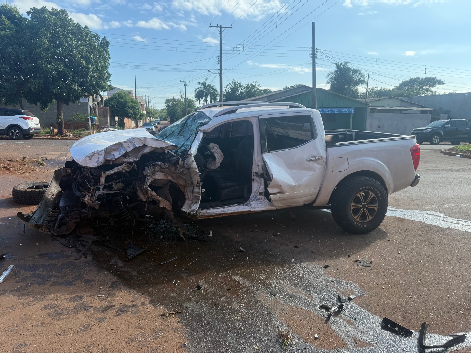
<path fill-rule="evenodd" d="M 198 12 L 211 16 L 218 15 L 219 10 L 223 8 L 219 15 L 221 18 L 230 11 L 230 16 L 233 18 L 241 16 L 241 18 L 260 20 L 280 8 L 286 10 L 288 6 L 285 2 L 281 0 L 172 0 L 172 7 L 179 11 Z"/>

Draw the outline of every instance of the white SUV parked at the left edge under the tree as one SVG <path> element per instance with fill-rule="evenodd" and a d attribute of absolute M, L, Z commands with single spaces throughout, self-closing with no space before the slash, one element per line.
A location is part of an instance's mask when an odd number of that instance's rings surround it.
<path fill-rule="evenodd" d="M 12 140 L 29 140 L 41 132 L 39 119 L 30 111 L 0 108 L 0 135 L 8 135 Z"/>

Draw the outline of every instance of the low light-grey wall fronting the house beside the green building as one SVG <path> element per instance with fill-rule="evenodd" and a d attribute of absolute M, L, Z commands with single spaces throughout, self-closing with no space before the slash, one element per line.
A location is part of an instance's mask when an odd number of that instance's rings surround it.
<path fill-rule="evenodd" d="M 410 135 L 412 129 L 430 124 L 430 114 L 368 113 L 366 131 Z"/>

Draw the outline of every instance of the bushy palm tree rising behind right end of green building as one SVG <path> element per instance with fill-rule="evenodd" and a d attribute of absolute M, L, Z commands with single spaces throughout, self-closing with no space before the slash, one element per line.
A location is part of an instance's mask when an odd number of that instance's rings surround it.
<path fill-rule="evenodd" d="M 327 84 L 330 90 L 344 96 L 358 98 L 358 86 L 365 83 L 365 74 L 349 66 L 349 61 L 334 63 L 335 69 L 327 73 Z"/>

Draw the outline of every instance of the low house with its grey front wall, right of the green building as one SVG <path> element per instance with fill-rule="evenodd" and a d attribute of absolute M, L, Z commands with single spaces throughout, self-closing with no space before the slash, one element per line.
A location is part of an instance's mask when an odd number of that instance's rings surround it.
<path fill-rule="evenodd" d="M 359 99 L 360 100 L 360 99 Z M 365 99 L 361 99 L 363 102 Z M 427 126 L 431 121 L 447 119 L 437 115 L 437 109 L 388 96 L 367 98 L 366 130 L 410 135 L 412 129 Z"/>

